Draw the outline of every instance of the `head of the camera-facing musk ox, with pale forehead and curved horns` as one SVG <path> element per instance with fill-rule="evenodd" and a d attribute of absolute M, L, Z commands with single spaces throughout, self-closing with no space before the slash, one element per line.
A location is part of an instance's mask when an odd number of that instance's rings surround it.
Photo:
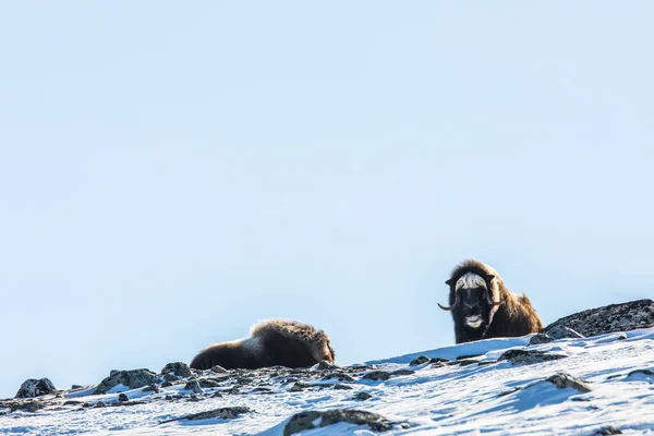
<path fill-rule="evenodd" d="M 450 287 L 449 307 L 438 306 L 452 313 L 456 323 L 469 332 L 469 337 L 481 338 L 493 320 L 493 314 L 502 302 L 496 300 L 495 275 L 485 271 L 465 271 L 453 276 L 446 283 Z"/>

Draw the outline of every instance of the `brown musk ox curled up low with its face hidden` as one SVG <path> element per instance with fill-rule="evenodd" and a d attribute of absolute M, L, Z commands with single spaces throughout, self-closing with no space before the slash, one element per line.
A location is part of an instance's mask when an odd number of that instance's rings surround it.
<path fill-rule="evenodd" d="M 267 366 L 306 367 L 334 363 L 334 349 L 323 330 L 294 320 L 268 319 L 252 327 L 250 338 L 215 343 L 199 352 L 191 367 L 256 370 Z"/>

